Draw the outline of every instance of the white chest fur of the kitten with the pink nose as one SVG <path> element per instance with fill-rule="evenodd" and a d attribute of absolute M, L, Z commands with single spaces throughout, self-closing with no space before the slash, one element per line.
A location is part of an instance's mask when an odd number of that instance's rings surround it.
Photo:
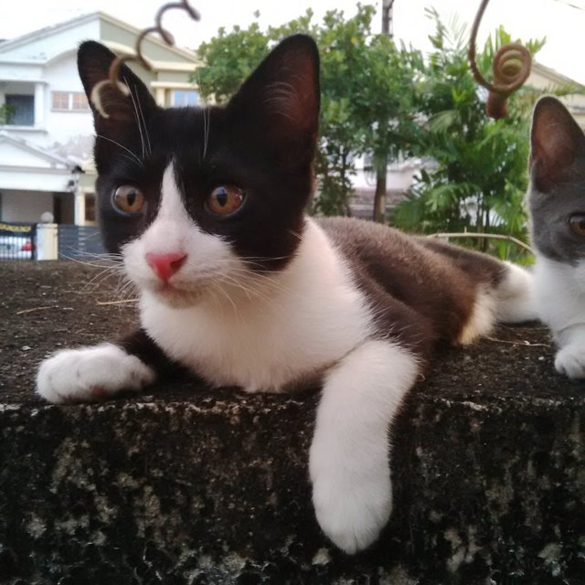
<path fill-rule="evenodd" d="M 258 294 L 176 309 L 144 293 L 144 329 L 214 385 L 282 391 L 317 378 L 371 333 L 372 318 L 343 261 L 314 224 L 291 266 Z"/>

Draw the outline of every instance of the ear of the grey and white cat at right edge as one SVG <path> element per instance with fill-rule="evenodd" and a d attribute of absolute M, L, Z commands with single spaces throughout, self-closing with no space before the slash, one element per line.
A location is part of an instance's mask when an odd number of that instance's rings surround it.
<path fill-rule="evenodd" d="M 530 173 L 543 192 L 558 183 L 579 155 L 585 136 L 565 106 L 552 96 L 537 101 L 530 133 Z"/>

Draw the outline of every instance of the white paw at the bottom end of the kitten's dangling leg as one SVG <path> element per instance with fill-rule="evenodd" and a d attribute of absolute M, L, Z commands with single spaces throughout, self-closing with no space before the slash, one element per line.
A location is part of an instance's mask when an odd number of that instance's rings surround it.
<path fill-rule="evenodd" d="M 313 504 L 325 535 L 353 555 L 371 545 L 388 522 L 392 509 L 388 469 L 344 479 L 337 473 L 319 474 L 314 477 Z"/>

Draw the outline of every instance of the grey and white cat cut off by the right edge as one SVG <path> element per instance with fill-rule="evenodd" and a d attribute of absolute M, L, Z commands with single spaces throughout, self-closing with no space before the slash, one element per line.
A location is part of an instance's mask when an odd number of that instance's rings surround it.
<path fill-rule="evenodd" d="M 532 120 L 527 202 L 540 318 L 558 345 L 555 367 L 585 378 L 585 136 L 546 96 Z"/>

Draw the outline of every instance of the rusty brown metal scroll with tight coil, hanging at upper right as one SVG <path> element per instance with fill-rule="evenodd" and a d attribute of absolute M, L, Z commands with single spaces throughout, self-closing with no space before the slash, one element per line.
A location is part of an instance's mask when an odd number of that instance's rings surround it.
<path fill-rule="evenodd" d="M 490 118 L 499 120 L 507 115 L 507 99 L 528 79 L 532 66 L 532 58 L 528 49 L 523 45 L 519 43 L 508 43 L 495 53 L 492 64 L 494 81 L 490 83 L 484 79 L 475 61 L 475 39 L 488 2 L 489 0 L 482 0 L 475 15 L 467 56 L 469 58 L 469 66 L 473 71 L 473 77 L 489 91 L 487 103 L 485 104 L 485 112 Z"/>

